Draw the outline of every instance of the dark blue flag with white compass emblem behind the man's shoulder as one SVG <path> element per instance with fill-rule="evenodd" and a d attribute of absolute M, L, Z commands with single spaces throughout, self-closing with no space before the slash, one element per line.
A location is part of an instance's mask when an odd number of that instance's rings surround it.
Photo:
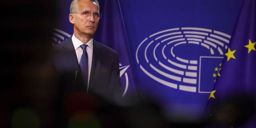
<path fill-rule="evenodd" d="M 132 71 L 132 59 L 122 19 L 119 0 L 100 0 L 102 18 L 94 38 L 118 52 L 120 59 L 120 77 L 124 89 L 123 96 L 136 96 Z"/>

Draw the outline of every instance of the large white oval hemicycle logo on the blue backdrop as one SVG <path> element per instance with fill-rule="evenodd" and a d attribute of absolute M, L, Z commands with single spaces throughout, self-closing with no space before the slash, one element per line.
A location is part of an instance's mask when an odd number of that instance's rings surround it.
<path fill-rule="evenodd" d="M 207 28 L 162 30 L 139 44 L 136 61 L 148 77 L 162 85 L 186 92 L 210 93 L 230 38 Z"/>

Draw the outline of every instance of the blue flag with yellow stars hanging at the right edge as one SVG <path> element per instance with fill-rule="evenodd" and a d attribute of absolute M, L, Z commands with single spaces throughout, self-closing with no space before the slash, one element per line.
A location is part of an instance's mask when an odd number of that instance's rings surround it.
<path fill-rule="evenodd" d="M 256 1 L 244 0 L 208 99 L 210 121 L 234 128 L 255 125 Z M 240 120 L 243 117 L 245 120 Z M 246 123 L 247 122 L 247 123 Z M 213 124 L 214 125 L 214 124 Z"/>

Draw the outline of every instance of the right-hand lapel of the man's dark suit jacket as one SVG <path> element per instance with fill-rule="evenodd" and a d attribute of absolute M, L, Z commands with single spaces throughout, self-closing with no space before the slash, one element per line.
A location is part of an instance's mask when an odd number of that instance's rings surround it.
<path fill-rule="evenodd" d="M 90 88 L 93 88 L 95 80 L 97 80 L 97 76 L 101 66 L 102 60 L 102 51 L 99 45 L 99 42 L 93 40 L 93 52 L 92 52 L 92 68 L 90 72 L 90 82 L 89 82 L 89 91 Z"/>

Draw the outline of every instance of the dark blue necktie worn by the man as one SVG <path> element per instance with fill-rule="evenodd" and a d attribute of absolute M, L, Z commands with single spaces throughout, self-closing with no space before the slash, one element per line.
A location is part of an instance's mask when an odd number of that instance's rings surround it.
<path fill-rule="evenodd" d="M 84 84 L 86 85 L 86 89 L 87 89 L 87 84 L 88 84 L 88 54 L 86 52 L 86 44 L 82 44 L 80 47 L 83 49 L 83 54 L 82 57 L 80 59 L 80 71 L 82 74 L 82 78 L 84 81 Z"/>

